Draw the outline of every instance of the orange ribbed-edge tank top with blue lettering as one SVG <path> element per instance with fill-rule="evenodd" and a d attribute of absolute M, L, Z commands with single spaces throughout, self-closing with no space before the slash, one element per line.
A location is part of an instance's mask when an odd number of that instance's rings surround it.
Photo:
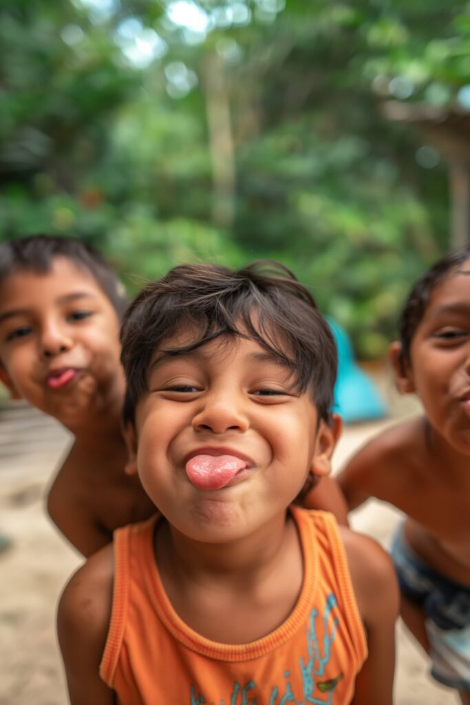
<path fill-rule="evenodd" d="M 304 582 L 290 616 L 249 644 L 187 627 L 154 559 L 156 518 L 117 529 L 111 623 L 101 678 L 123 705 L 347 705 L 367 655 L 333 515 L 292 509 Z"/>

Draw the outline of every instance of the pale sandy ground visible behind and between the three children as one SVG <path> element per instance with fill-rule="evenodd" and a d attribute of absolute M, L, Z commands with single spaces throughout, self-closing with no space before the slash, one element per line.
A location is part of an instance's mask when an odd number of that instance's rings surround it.
<path fill-rule="evenodd" d="M 393 415 L 408 412 L 416 407 L 398 412 L 394 407 Z M 336 467 L 390 422 L 346 427 Z M 51 526 L 44 496 L 69 444 L 70 437 L 38 412 L 20 405 L 0 414 L 0 532 L 12 539 L 11 547 L 0 553 L 0 705 L 68 701 L 54 619 L 58 595 L 80 556 Z M 398 520 L 396 510 L 375 501 L 352 515 L 354 528 L 385 546 Z M 431 680 L 419 647 L 399 624 L 396 705 L 458 702 L 452 691 Z"/>

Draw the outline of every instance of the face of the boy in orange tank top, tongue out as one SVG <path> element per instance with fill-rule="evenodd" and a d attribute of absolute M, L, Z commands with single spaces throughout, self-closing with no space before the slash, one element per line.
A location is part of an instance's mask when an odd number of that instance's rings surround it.
<path fill-rule="evenodd" d="M 247 536 L 284 513 L 312 468 L 330 470 L 335 430 L 254 341 L 218 338 L 176 356 L 157 351 L 148 388 L 137 404 L 137 440 L 128 429 L 131 453 L 137 446 L 147 494 L 187 537 Z"/>

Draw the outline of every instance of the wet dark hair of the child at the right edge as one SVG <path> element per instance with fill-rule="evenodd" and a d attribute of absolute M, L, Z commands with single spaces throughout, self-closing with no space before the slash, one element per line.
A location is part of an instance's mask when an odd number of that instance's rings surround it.
<path fill-rule="evenodd" d="M 399 362 L 403 372 L 406 369 L 406 365 L 411 362 L 410 350 L 413 336 L 426 312 L 433 290 L 438 284 L 453 274 L 461 264 L 464 264 L 467 259 L 470 259 L 470 245 L 450 252 L 439 262 L 436 262 L 414 284 L 405 302 L 399 321 L 400 343 L 402 344 Z"/>

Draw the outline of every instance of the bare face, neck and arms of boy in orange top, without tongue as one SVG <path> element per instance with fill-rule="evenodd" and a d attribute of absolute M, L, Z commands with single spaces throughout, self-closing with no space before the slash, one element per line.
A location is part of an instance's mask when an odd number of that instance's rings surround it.
<path fill-rule="evenodd" d="M 317 424 L 309 394 L 286 393 L 285 368 L 256 362 L 262 353 L 256 343 L 240 342 L 233 357 L 227 346 L 218 355 L 210 345 L 207 354 L 154 364 L 150 391 L 137 405 L 136 428 L 126 434 L 128 470 L 138 466 L 166 517 L 156 531 L 155 560 L 173 608 L 200 635 L 244 644 L 272 632 L 295 606 L 303 557 L 286 506 L 312 468 L 322 477 L 330 471 L 340 424 Z M 258 396 L 266 384 L 271 396 Z M 218 501 L 213 493 L 196 491 L 185 472 L 187 454 L 209 445 L 242 449 L 254 467 Z M 353 702 L 376 705 L 380 693 L 381 705 L 390 705 L 395 572 L 375 541 L 341 531 L 369 644 Z M 72 705 L 114 702 L 115 694 L 99 678 L 112 590 L 109 546 L 85 563 L 63 593 L 58 637 Z"/>

